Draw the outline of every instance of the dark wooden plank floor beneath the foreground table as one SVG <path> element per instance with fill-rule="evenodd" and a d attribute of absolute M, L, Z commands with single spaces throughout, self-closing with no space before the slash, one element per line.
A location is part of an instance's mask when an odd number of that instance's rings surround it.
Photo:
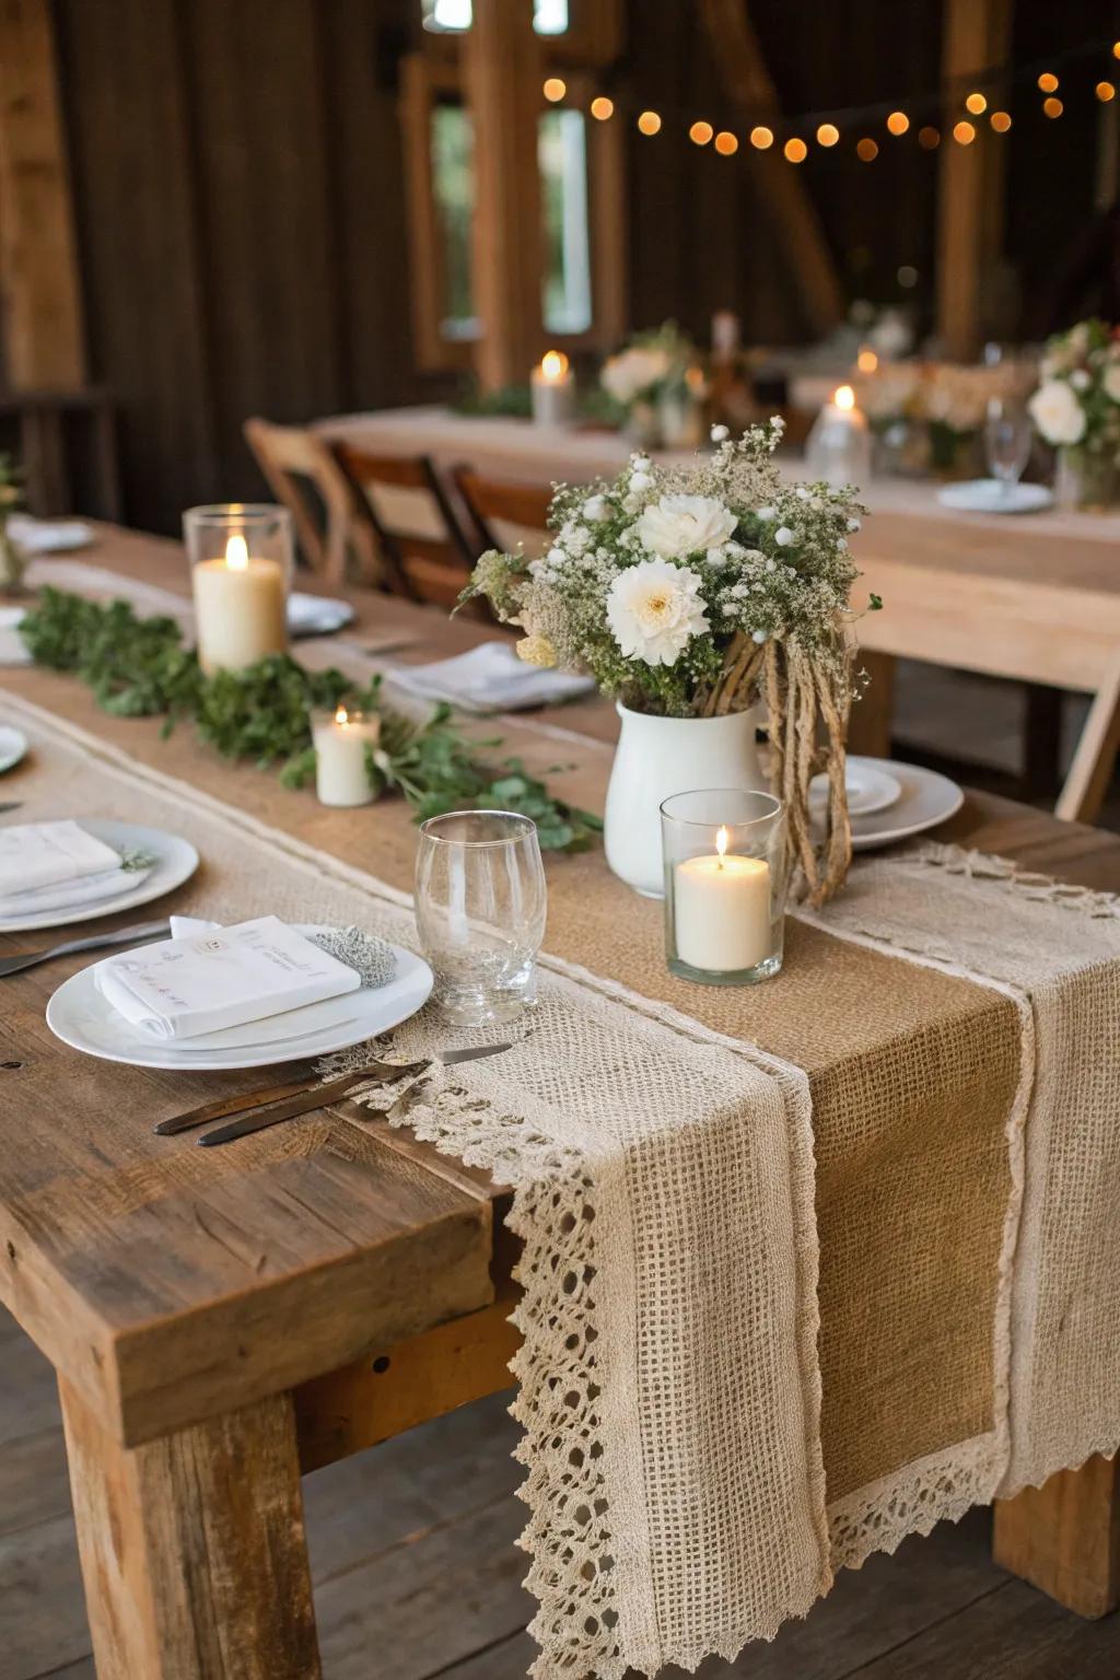
<path fill-rule="evenodd" d="M 514 1438 L 495 1396 L 304 1482 L 324 1680 L 521 1680 Z M 871 1559 L 702 1680 L 1115 1680 L 1120 1616 L 1080 1621 L 1004 1574 L 987 1527 L 974 1512 Z M 0 1309 L 0 1680 L 47 1675 L 94 1667 L 54 1378 Z"/>

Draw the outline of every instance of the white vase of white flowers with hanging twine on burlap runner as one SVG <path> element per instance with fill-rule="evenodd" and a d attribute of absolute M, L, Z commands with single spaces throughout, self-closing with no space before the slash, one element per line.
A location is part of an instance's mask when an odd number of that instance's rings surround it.
<path fill-rule="evenodd" d="M 490 549 L 465 591 L 524 630 L 522 659 L 589 672 L 618 702 L 606 853 L 645 892 L 660 890 L 663 798 L 759 785 L 759 701 L 799 884 L 823 904 L 850 864 L 845 739 L 858 571 L 848 538 L 863 509 L 851 487 L 786 484 L 771 459 L 781 432 L 774 418 L 732 442 L 715 427 L 715 455 L 688 467 L 635 454 L 613 482 L 557 486 L 547 553 Z M 717 731 L 720 721 L 729 727 Z M 714 749 L 717 736 L 725 746 Z M 809 781 L 821 769 L 830 795 L 818 828 Z M 697 780 L 715 774 L 724 780 Z"/>

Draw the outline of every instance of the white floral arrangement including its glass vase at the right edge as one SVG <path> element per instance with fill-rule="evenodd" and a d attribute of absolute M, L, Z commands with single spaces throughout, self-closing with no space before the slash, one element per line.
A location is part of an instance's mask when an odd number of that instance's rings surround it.
<path fill-rule="evenodd" d="M 1029 410 L 1058 450 L 1060 499 L 1108 507 L 1120 470 L 1120 333 L 1080 321 L 1049 339 L 1039 371 Z"/>

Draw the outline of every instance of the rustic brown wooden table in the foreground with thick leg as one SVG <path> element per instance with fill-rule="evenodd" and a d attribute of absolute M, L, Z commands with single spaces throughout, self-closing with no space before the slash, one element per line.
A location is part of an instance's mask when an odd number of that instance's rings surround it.
<path fill-rule="evenodd" d="M 92 563 L 185 590 L 176 544 L 101 536 Z M 359 638 L 396 627 L 411 659 L 492 633 L 361 591 L 354 605 Z M 5 682 L 91 726 L 77 684 Z M 588 803 L 601 803 L 613 722 L 601 702 L 559 719 L 569 749 L 584 743 Z M 154 741 L 138 722 L 104 731 Z M 5 793 L 18 796 L 18 774 Z M 1120 840 L 1007 801 L 971 795 L 944 833 L 1120 885 Z M 7 936 L 0 951 L 35 944 Z M 97 1673 L 314 1680 L 301 1473 L 509 1384 L 502 1189 L 349 1104 L 217 1154 L 154 1137 L 154 1121 L 237 1079 L 69 1052 L 44 1005 L 81 963 L 3 981 L 0 1299 L 59 1374 Z M 1103 1460 L 1028 1490 L 997 1515 L 999 1559 L 1105 1613 L 1120 1586 L 1115 1495 Z"/>

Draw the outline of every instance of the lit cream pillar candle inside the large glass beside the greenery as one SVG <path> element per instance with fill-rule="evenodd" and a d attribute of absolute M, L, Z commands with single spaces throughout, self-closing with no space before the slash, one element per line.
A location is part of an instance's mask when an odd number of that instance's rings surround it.
<path fill-rule="evenodd" d="M 287 601 L 279 559 L 249 558 L 245 538 L 233 534 L 222 559 L 191 566 L 198 664 L 243 670 L 287 648 Z"/>

